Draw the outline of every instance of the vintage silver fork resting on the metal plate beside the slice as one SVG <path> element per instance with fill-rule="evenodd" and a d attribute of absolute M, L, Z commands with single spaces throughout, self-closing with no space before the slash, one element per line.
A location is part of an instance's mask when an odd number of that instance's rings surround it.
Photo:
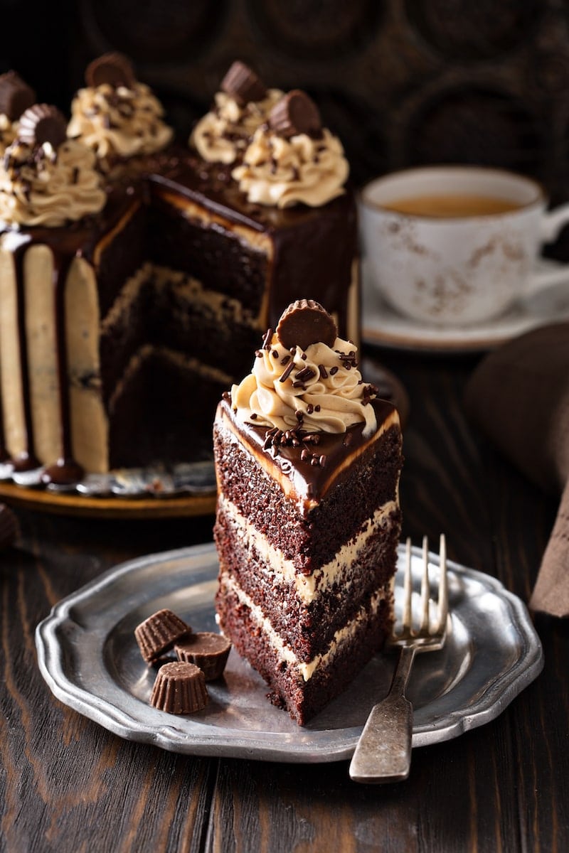
<path fill-rule="evenodd" d="M 356 782 L 394 782 L 406 779 L 411 764 L 413 706 L 405 697 L 411 665 L 416 652 L 433 652 L 444 646 L 449 612 L 446 577 L 446 542 L 440 537 L 438 612 L 429 618 L 429 549 L 423 537 L 421 575 L 421 614 L 418 628 L 413 627 L 411 577 L 411 540 L 405 547 L 404 602 L 402 629 L 393 626 L 386 648 L 398 647 L 399 658 L 386 698 L 369 713 L 350 764 L 350 777 Z"/>

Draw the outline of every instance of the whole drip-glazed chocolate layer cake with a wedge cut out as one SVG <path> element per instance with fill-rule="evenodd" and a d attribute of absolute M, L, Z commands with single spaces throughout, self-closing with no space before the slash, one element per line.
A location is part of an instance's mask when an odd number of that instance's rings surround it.
<path fill-rule="evenodd" d="M 0 450 L 55 483 L 210 456 L 222 391 L 309 285 L 357 336 L 347 166 L 307 96 L 235 63 L 188 148 L 124 57 L 86 82 L 66 138 L 0 79 Z"/>

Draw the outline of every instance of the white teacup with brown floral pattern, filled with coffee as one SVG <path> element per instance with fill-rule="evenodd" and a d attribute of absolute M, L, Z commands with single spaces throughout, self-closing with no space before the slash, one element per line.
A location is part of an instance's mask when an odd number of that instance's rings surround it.
<path fill-rule="evenodd" d="M 370 276 L 393 308 L 424 324 L 491 320 L 569 281 L 569 266 L 535 270 L 541 245 L 569 221 L 569 205 L 546 206 L 538 183 L 500 169 L 435 165 L 379 177 L 360 198 Z"/>

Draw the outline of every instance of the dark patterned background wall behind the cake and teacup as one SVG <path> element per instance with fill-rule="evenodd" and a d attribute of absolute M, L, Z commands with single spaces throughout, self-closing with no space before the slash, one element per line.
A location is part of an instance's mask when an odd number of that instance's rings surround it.
<path fill-rule="evenodd" d="M 311 93 L 358 184 L 404 165 L 469 162 L 523 171 L 555 204 L 569 199 L 569 0 L 0 7 L 3 69 L 15 67 L 66 111 L 86 63 L 119 49 L 186 135 L 241 58 L 265 83 Z"/>

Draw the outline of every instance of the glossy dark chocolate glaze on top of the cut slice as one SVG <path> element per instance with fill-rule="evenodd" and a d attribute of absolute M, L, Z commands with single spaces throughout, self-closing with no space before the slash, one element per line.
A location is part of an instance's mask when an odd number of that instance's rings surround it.
<path fill-rule="evenodd" d="M 317 503 L 326 493 L 328 485 L 336 481 L 336 474 L 345 462 L 373 442 L 380 427 L 396 412 L 395 406 L 387 400 L 374 399 L 369 405 L 374 407 L 378 427 L 371 438 L 363 438 L 362 422 L 348 427 L 344 433 L 317 432 L 317 444 L 312 440 L 301 440 L 298 447 L 290 444 L 267 446 L 269 427 L 256 427 L 252 423 L 238 421 L 229 399 L 219 403 L 218 415 L 226 419 L 230 429 L 239 436 L 241 443 L 248 447 L 253 456 L 264 457 L 270 461 L 270 466 L 274 466 L 277 472 L 290 480 L 297 496 Z M 395 422 L 398 423 L 397 416 Z M 301 431 L 299 437 L 303 439 L 306 435 L 314 434 Z"/>

